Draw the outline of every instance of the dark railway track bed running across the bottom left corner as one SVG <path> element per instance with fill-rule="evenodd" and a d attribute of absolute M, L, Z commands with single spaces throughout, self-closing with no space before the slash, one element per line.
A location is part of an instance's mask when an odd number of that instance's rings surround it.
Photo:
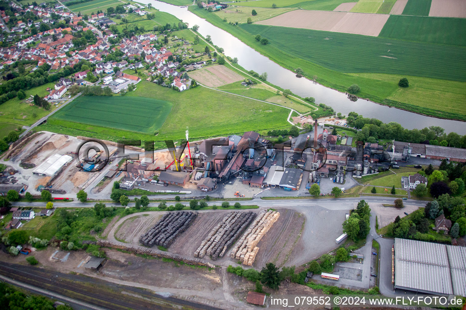
<path fill-rule="evenodd" d="M 58 299 L 60 298 L 47 294 L 45 291 L 73 298 L 82 303 L 88 303 L 95 310 L 174 310 L 180 307 L 196 310 L 220 310 L 219 308 L 174 297 L 163 297 L 143 289 L 108 284 L 94 278 L 63 274 L 23 265 L 3 263 L 0 275 L 22 284 L 28 284 L 39 289 L 36 291 Z M 43 290 L 43 292 L 40 290 Z M 130 294 L 123 295 L 123 290 Z"/>

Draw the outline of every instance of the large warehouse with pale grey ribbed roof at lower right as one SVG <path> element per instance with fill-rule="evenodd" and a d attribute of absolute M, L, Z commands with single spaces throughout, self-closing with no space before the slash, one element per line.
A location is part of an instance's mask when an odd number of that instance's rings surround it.
<path fill-rule="evenodd" d="M 395 288 L 466 297 L 466 247 L 395 238 Z"/>

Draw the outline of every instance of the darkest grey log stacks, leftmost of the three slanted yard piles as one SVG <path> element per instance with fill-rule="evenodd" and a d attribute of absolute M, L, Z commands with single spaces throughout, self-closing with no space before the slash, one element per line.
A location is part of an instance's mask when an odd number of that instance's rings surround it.
<path fill-rule="evenodd" d="M 161 245 L 168 248 L 192 224 L 198 214 L 189 211 L 166 213 L 157 224 L 139 237 L 139 242 L 146 246 Z"/>

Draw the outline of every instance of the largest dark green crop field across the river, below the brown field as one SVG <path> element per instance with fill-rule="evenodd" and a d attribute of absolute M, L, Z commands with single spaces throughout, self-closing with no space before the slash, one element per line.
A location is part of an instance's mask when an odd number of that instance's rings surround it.
<path fill-rule="evenodd" d="M 256 24 L 240 27 L 251 36 L 260 34 L 269 38 L 270 45 L 276 49 L 339 72 L 409 74 L 466 81 L 464 47 Z"/>

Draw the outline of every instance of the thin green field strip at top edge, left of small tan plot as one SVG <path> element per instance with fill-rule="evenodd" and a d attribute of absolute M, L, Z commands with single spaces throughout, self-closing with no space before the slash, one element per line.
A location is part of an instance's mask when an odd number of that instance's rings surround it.
<path fill-rule="evenodd" d="M 276 4 L 277 7 L 300 7 L 305 10 L 333 11 L 340 4 L 345 2 L 356 2 L 349 0 L 258 0 L 258 1 L 240 1 L 234 5 L 242 7 L 272 7 Z"/>

